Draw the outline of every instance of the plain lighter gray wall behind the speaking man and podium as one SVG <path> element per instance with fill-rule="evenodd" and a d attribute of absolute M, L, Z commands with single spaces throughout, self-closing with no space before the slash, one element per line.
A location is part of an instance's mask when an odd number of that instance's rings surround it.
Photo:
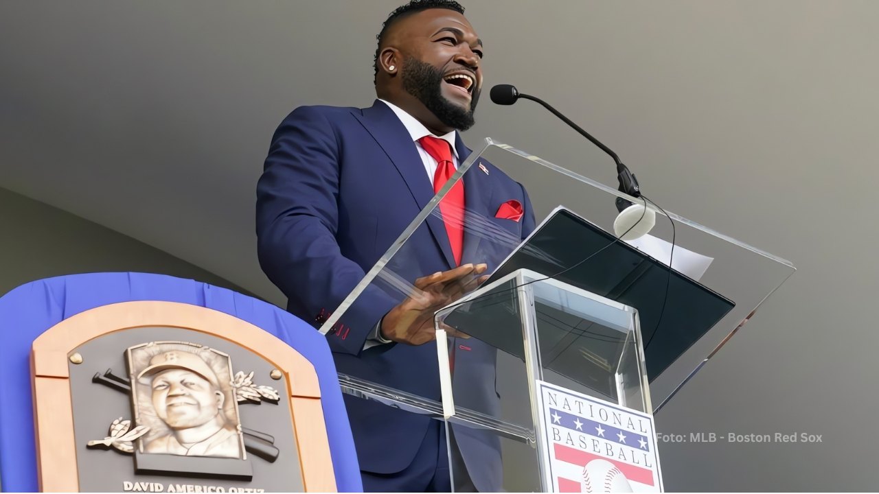
<path fill-rule="evenodd" d="M 272 131 L 296 105 L 369 105 L 374 35 L 402 2 L 4 2 L 0 186 L 281 303 L 252 221 Z M 879 3 L 467 6 L 487 85 L 544 95 L 653 200 L 800 269 L 657 421 L 823 442 L 664 443 L 666 487 L 875 490 Z M 534 106 L 486 98 L 477 120 L 468 142 L 614 181 Z"/>

